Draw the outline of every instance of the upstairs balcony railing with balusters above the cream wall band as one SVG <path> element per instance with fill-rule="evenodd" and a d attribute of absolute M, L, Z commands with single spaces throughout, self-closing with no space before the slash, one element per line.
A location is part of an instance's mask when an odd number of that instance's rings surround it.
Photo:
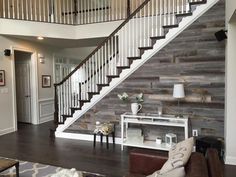
<path fill-rule="evenodd" d="M 0 0 L 0 18 L 82 25 L 126 19 L 144 0 Z"/>

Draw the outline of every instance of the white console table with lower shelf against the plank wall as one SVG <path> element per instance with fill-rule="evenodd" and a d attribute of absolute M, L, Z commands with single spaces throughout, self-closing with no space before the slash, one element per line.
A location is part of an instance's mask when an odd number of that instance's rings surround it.
<path fill-rule="evenodd" d="M 158 149 L 168 151 L 169 146 L 165 143 L 157 144 L 155 141 L 145 141 L 143 143 L 129 142 L 127 140 L 127 129 L 129 124 L 145 124 L 145 125 L 156 125 L 156 126 L 169 126 L 169 127 L 182 127 L 184 128 L 185 139 L 188 138 L 188 117 L 176 118 L 174 115 L 162 115 L 157 114 L 144 114 L 139 113 L 133 115 L 132 113 L 124 113 L 121 115 L 121 150 L 124 146 Z"/>

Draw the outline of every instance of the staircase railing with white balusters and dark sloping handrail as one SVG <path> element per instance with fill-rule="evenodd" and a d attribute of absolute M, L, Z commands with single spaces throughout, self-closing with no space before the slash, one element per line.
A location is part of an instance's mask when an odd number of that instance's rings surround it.
<path fill-rule="evenodd" d="M 189 12 L 187 0 L 145 0 L 110 36 L 60 83 L 55 84 L 55 122 L 63 123 L 140 59 L 166 29 L 175 27 L 176 14 Z"/>

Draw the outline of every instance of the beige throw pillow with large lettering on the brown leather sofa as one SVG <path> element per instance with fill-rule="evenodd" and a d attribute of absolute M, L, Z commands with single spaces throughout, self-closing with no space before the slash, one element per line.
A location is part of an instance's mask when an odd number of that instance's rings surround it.
<path fill-rule="evenodd" d="M 160 170 L 160 174 L 171 171 L 174 168 L 184 166 L 193 150 L 193 137 L 179 142 L 169 151 L 169 158 Z"/>

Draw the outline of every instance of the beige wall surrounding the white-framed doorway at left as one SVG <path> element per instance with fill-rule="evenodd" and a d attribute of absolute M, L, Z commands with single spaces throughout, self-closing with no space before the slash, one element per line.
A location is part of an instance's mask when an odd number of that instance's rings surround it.
<path fill-rule="evenodd" d="M 17 40 L 14 38 L 6 38 L 0 36 L 0 70 L 6 71 L 6 86 L 0 87 L 2 89 L 7 89 L 8 93 L 0 92 L 0 135 L 11 131 L 14 131 L 14 120 L 13 120 L 13 67 L 11 57 L 6 57 L 3 55 L 4 49 L 9 49 L 11 47 L 17 47 L 21 49 L 32 50 L 37 53 L 42 53 L 45 55 L 46 62 L 41 64 L 38 62 L 38 99 L 48 99 L 53 98 L 53 87 L 51 88 L 41 88 L 41 75 L 51 75 L 53 76 L 53 52 L 56 49 L 50 47 L 43 47 L 35 43 L 26 42 L 23 40 Z M 38 61 L 38 60 L 37 60 Z M 36 88 L 32 88 L 36 89 Z M 52 103 L 53 104 L 53 103 Z M 40 106 L 40 103 L 38 104 Z M 48 110 L 49 107 L 44 107 L 47 111 L 52 112 L 53 110 Z M 44 110 L 42 110 L 44 111 Z M 40 113 L 39 113 L 40 114 Z M 51 113 L 50 113 L 51 114 Z M 40 115 L 38 115 L 40 117 Z M 49 114 L 48 114 L 49 116 Z M 40 117 L 41 118 L 41 117 Z M 43 117 L 45 118 L 45 117 Z M 50 118 L 53 118 L 50 116 Z M 40 121 L 41 122 L 41 121 Z"/>

